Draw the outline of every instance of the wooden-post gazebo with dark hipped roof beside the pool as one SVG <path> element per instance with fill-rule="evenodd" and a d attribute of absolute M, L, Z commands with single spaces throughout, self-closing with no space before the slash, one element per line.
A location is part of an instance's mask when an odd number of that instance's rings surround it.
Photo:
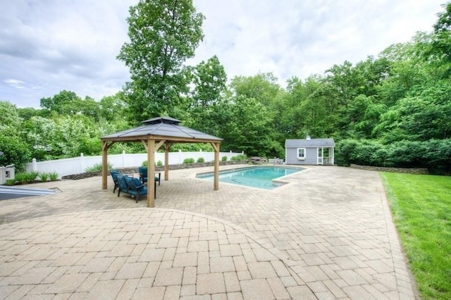
<path fill-rule="evenodd" d="M 180 125 L 180 120 L 170 117 L 159 117 L 142 121 L 142 125 L 101 137 L 102 147 L 102 189 L 107 188 L 108 149 L 116 142 L 140 142 L 147 151 L 147 177 L 153 178 L 155 171 L 155 152 L 164 145 L 164 180 L 169 180 L 169 149 L 178 143 L 209 143 L 214 148 L 214 184 L 219 189 L 219 145 L 220 137 Z M 147 207 L 155 206 L 154 184 L 147 181 Z"/>

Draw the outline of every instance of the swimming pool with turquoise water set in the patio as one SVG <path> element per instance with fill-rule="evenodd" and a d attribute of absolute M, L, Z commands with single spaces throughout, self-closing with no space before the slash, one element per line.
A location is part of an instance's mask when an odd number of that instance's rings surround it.
<path fill-rule="evenodd" d="M 304 168 L 289 167 L 251 167 L 233 170 L 223 170 L 219 172 L 219 181 L 233 183 L 235 185 L 245 185 L 247 187 L 258 187 L 260 189 L 274 189 L 283 185 L 282 182 L 275 182 L 278 177 L 297 173 Z M 213 173 L 197 174 L 197 178 L 213 180 Z"/>

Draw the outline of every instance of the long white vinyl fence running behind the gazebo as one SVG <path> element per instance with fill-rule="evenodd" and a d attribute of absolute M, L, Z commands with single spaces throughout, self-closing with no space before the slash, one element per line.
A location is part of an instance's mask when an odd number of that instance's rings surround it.
<path fill-rule="evenodd" d="M 227 160 L 243 153 L 235 152 L 220 152 L 219 159 L 223 156 L 227 156 Z M 169 165 L 177 165 L 183 163 L 185 158 L 197 158 L 202 157 L 206 162 L 214 161 L 214 152 L 169 152 Z M 133 168 L 142 165 L 143 161 L 147 161 L 147 154 L 109 154 L 108 162 L 113 164 L 113 168 Z M 164 153 L 157 152 L 155 154 L 155 162 L 161 161 L 164 164 Z M 26 170 L 39 171 L 39 172 L 56 172 L 58 177 L 84 173 L 86 168 L 91 167 L 96 163 L 101 163 L 101 156 L 83 156 L 74 158 L 63 158 L 55 161 L 36 161 L 33 158 L 31 163 L 26 164 Z"/>

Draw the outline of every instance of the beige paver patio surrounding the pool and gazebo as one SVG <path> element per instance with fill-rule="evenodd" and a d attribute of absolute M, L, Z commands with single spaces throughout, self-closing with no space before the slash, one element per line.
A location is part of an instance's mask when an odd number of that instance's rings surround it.
<path fill-rule="evenodd" d="M 171 170 L 156 208 L 101 177 L 0 201 L 0 299 L 416 298 L 378 173 L 213 191 L 209 170 Z"/>

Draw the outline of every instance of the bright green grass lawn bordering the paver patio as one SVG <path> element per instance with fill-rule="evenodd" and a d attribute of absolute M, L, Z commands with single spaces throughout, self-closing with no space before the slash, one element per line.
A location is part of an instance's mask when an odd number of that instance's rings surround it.
<path fill-rule="evenodd" d="M 423 299 L 451 299 L 451 177 L 381 173 Z"/>

